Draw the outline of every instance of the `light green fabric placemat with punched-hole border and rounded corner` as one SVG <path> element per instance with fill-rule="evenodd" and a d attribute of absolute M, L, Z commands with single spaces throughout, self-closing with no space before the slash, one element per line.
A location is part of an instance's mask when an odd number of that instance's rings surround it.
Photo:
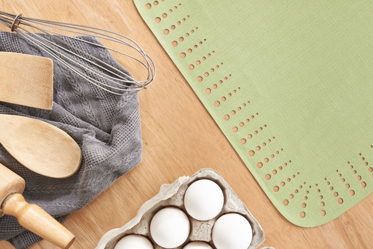
<path fill-rule="evenodd" d="M 285 218 L 372 193 L 372 1 L 134 1 Z"/>

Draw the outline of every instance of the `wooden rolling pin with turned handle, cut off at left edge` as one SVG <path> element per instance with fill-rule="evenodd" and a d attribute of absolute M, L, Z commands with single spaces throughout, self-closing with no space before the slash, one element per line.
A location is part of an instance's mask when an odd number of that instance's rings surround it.
<path fill-rule="evenodd" d="M 25 201 L 25 180 L 0 164 L 0 217 L 11 215 L 19 224 L 59 248 L 68 249 L 75 236 L 46 211 Z"/>

